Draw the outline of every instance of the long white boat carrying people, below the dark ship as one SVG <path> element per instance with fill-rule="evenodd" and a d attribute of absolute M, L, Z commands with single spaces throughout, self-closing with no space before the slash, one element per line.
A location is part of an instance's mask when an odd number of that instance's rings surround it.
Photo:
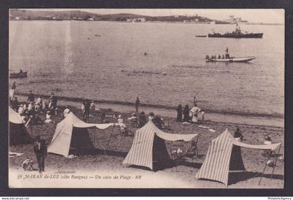
<path fill-rule="evenodd" d="M 250 57 L 230 57 L 229 49 L 227 48 L 225 50 L 225 55 L 212 55 L 209 57 L 209 55 L 206 55 L 206 62 L 250 62 L 251 60 L 255 59 L 256 57 L 250 56 Z"/>

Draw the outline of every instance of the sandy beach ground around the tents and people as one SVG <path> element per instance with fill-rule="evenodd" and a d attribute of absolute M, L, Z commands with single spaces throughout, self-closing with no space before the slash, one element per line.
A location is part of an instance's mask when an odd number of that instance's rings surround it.
<path fill-rule="evenodd" d="M 25 99 L 25 97 L 20 97 Z M 103 104 L 103 103 L 102 103 Z M 112 115 L 112 111 L 119 111 L 125 121 L 127 117 L 130 116 L 130 107 L 117 105 L 97 105 L 98 108 L 106 111 L 106 115 Z M 80 110 L 80 103 L 73 101 L 59 101 L 59 110 L 61 111 L 59 115 L 52 117 L 54 123 L 52 124 L 38 124 L 29 126 L 28 130 L 32 137 L 37 135 L 42 136 L 49 144 L 54 135 L 57 123 L 63 120 L 61 113 L 63 112 L 64 106 L 69 105 L 70 110 L 77 115 L 77 117 L 82 118 L 82 111 Z M 125 108 L 126 107 L 126 108 Z M 134 107 L 132 108 L 134 110 Z M 133 168 L 128 166 L 123 166 L 123 159 L 126 157 L 128 151 L 133 143 L 133 134 L 129 136 L 121 136 L 119 134 L 119 128 L 114 128 L 112 137 L 110 138 L 111 129 L 105 130 L 93 130 L 89 129 L 89 134 L 91 141 L 96 148 L 95 152 L 89 154 L 77 155 L 75 159 L 68 159 L 60 155 L 48 154 L 45 160 L 45 174 L 68 174 L 72 175 L 83 175 L 91 174 L 95 177 L 98 174 L 104 174 L 106 171 L 112 174 L 126 174 L 132 176 L 133 174 L 140 174 L 142 180 L 138 182 L 137 180 L 123 180 L 116 181 L 115 184 L 111 180 L 94 181 L 93 180 L 73 180 L 68 184 L 64 184 L 63 180 L 56 181 L 42 181 L 41 183 L 36 180 L 16 180 L 16 176 L 19 174 L 38 174 L 37 171 L 25 172 L 22 169 L 22 161 L 24 159 L 31 158 L 36 160 L 33 153 L 33 146 L 31 144 L 27 145 L 16 145 L 10 146 L 10 152 L 22 152 L 21 156 L 10 157 L 9 167 L 10 167 L 10 187 L 140 187 L 140 188 L 151 188 L 151 187 L 183 187 L 183 188 L 226 188 L 223 183 L 218 183 L 211 180 L 197 180 L 195 175 L 199 171 L 202 162 L 204 162 L 204 157 L 206 151 L 209 147 L 211 139 L 216 138 L 219 134 L 223 133 L 225 129 L 229 129 L 231 133 L 234 133 L 236 127 L 239 127 L 243 133 L 244 141 L 243 143 L 249 144 L 263 144 L 264 137 L 270 136 L 273 143 L 282 143 L 280 149 L 280 155 L 284 154 L 284 128 L 282 126 L 269 126 L 267 124 L 249 124 L 239 122 L 220 122 L 216 120 L 211 120 L 207 118 L 204 121 L 200 121 L 198 124 L 181 124 L 176 122 L 174 118 L 174 113 L 167 115 L 161 112 L 159 108 L 140 108 L 140 111 L 149 113 L 152 111 L 155 114 L 162 115 L 165 124 L 169 126 L 167 132 L 172 132 L 176 134 L 200 134 L 199 142 L 197 148 L 199 150 L 198 158 L 186 157 L 183 162 L 179 162 L 178 166 L 170 164 L 165 169 L 159 169 L 156 171 L 150 171 L 148 169 Z M 133 111 L 132 111 L 133 112 Z M 163 114 L 162 114 L 163 113 Z M 209 115 L 208 115 L 209 116 Z M 42 120 L 45 120 L 44 113 L 40 116 Z M 112 117 L 107 117 L 110 122 L 117 122 Z M 228 121 L 228 120 L 227 120 Z M 90 123 L 100 123 L 100 115 L 95 113 L 93 117 L 89 119 Z M 198 125 L 203 125 L 214 129 L 215 132 L 211 132 L 208 129 L 202 129 Z M 136 128 L 135 128 L 136 129 Z M 132 129 L 130 132 L 135 132 Z M 105 150 L 107 142 L 110 140 L 110 145 L 107 150 Z M 176 150 L 177 148 L 182 148 L 187 150 L 190 143 L 187 142 L 170 142 L 166 141 L 166 146 L 168 152 L 170 150 Z M 266 162 L 266 157 L 262 156 L 262 150 L 251 150 L 246 148 L 241 148 L 243 163 L 246 166 L 245 172 L 232 172 L 230 173 L 228 188 L 282 188 L 283 178 L 284 178 L 284 162 L 278 161 L 276 164 L 276 169 L 273 176 L 271 177 L 272 168 L 266 167 L 264 172 L 264 178 L 262 178 L 261 185 L 258 185 L 260 176 L 262 175 L 262 170 Z M 105 155 L 106 153 L 106 155 Z M 34 168 L 37 169 L 37 164 L 34 164 Z M 134 176 L 134 175 L 133 175 Z M 156 180 L 156 181 L 153 181 Z"/>

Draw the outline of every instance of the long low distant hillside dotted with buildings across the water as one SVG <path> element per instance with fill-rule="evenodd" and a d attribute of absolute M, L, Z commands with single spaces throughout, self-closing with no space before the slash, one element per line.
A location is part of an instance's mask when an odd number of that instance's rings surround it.
<path fill-rule="evenodd" d="M 188 17 L 184 15 L 172 16 L 147 16 L 135 15 L 130 13 L 119 13 L 100 15 L 97 13 L 88 13 L 80 10 L 70 11 L 43 11 L 43 10 L 10 10 L 10 20 L 100 20 L 100 21 L 128 21 L 128 22 L 211 22 L 213 20 L 193 16 Z"/>

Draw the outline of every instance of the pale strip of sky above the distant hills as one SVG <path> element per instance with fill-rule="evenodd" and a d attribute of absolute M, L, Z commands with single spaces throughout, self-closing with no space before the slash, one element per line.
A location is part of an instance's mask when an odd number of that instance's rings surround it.
<path fill-rule="evenodd" d="M 133 13 L 137 15 L 165 16 L 165 15 L 200 15 L 213 20 L 227 20 L 230 15 L 241 17 L 248 22 L 285 23 L 283 9 L 31 9 L 31 10 L 83 10 L 90 13 L 117 14 Z"/>

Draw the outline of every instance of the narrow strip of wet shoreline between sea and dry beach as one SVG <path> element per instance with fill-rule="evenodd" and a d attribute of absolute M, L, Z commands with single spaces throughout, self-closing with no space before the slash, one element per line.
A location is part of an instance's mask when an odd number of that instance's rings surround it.
<path fill-rule="evenodd" d="M 19 101 L 27 100 L 27 93 L 15 92 L 15 96 Z M 43 101 L 47 101 L 50 95 L 35 94 L 36 97 L 42 97 Z M 59 106 L 73 106 L 75 108 L 80 108 L 82 99 L 78 97 L 60 97 L 58 98 Z M 106 100 L 93 100 L 96 103 L 96 108 L 111 109 L 114 112 L 121 113 L 133 113 L 135 111 L 134 103 L 125 101 L 106 101 Z M 176 118 L 176 108 L 172 106 L 161 106 L 153 105 L 147 103 L 140 103 L 139 111 L 144 111 L 144 113 L 153 112 L 159 114 L 162 117 L 172 117 Z M 284 128 L 285 120 L 282 117 L 264 117 L 264 116 L 251 116 L 251 115 L 236 115 L 232 113 L 215 113 L 205 110 L 205 120 L 210 120 L 213 122 L 225 122 L 232 124 L 249 124 L 249 125 L 260 125 L 269 127 L 281 127 Z M 201 116 L 201 115 L 200 115 Z"/>

